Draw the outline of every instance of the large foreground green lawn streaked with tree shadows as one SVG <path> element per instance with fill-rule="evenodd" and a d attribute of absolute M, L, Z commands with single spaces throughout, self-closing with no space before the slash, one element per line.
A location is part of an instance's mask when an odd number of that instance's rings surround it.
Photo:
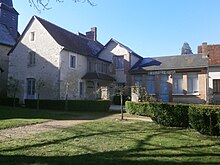
<path fill-rule="evenodd" d="M 118 115 L 120 116 L 120 115 Z M 220 138 L 111 117 L 0 142 L 0 164 L 220 164 Z"/>

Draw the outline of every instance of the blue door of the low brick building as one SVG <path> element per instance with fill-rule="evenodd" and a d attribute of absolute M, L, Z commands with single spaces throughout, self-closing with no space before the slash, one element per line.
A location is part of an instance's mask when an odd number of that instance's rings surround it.
<path fill-rule="evenodd" d="M 169 82 L 168 75 L 160 75 L 160 91 L 159 98 L 161 102 L 169 102 Z"/>

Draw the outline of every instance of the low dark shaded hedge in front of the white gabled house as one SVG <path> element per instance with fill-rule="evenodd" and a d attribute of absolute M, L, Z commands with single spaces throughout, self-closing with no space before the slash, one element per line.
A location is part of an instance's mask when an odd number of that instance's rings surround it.
<path fill-rule="evenodd" d="M 40 100 L 39 109 L 68 110 L 68 111 L 108 111 L 109 100 Z M 37 100 L 25 100 L 27 108 L 37 108 Z"/>

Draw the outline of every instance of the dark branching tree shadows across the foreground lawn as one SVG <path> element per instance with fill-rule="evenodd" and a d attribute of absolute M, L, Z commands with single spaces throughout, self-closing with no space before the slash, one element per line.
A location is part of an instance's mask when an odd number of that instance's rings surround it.
<path fill-rule="evenodd" d="M 40 142 L 37 144 L 27 144 L 21 147 L 0 149 L 1 153 L 19 153 L 19 151 L 33 150 L 41 147 L 47 147 L 51 145 L 62 144 L 63 142 L 74 139 L 91 139 L 93 137 L 120 137 L 121 133 L 124 132 L 123 138 L 129 141 L 134 141 L 135 145 L 128 149 L 116 149 L 115 151 L 96 151 L 90 146 L 81 146 L 86 150 L 87 154 L 73 153 L 72 155 L 64 156 L 27 156 L 27 155 L 1 155 L 0 154 L 0 164 L 80 164 L 80 165 L 90 165 L 90 164 L 99 164 L 99 165 L 166 165 L 166 164 L 177 164 L 177 165 L 217 165 L 220 162 L 220 153 L 218 151 L 206 150 L 206 148 L 220 147 L 219 141 L 216 141 L 212 144 L 190 144 L 190 146 L 184 145 L 159 145 L 153 142 L 155 137 L 163 137 L 170 133 L 169 129 L 165 128 L 150 128 L 148 127 L 147 131 L 150 134 L 146 134 L 146 131 L 139 130 L 141 127 L 130 126 L 129 128 L 120 128 L 118 130 L 97 130 L 96 128 L 90 128 L 90 133 L 86 133 L 85 130 L 82 130 L 83 127 L 75 130 L 77 135 L 57 138 L 53 140 L 48 140 L 46 142 Z M 86 129 L 86 127 L 85 127 Z M 93 130 L 92 130 L 93 129 Z M 67 129 L 67 132 L 71 132 L 71 129 Z M 96 132 L 93 132 L 96 131 Z M 179 129 L 173 129 L 179 136 L 184 135 L 185 133 Z M 180 132 L 178 132 L 180 131 Z M 141 138 L 136 138 L 134 134 L 144 134 L 145 136 Z M 190 135 L 188 135 L 190 136 Z M 121 138 L 121 137 L 120 137 Z M 181 142 L 181 139 L 178 139 Z M 74 147 L 74 146 L 73 146 Z M 80 147 L 80 146 L 75 146 Z M 62 148 L 60 148 L 62 150 Z M 196 149 L 196 150 L 194 150 Z M 178 152 L 176 152 L 178 151 Z M 62 151 L 61 151 L 62 152 Z M 65 151 L 64 151 L 65 152 Z M 55 154 L 56 155 L 56 154 Z M 208 158 L 208 160 L 206 160 Z M 217 159 L 217 160 L 216 160 Z"/>

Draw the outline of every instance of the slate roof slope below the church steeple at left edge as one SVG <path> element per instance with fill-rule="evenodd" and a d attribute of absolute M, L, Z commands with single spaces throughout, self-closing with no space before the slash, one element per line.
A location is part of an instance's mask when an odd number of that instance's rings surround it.
<path fill-rule="evenodd" d="M 16 43 L 16 41 L 11 36 L 7 27 L 3 24 L 0 24 L 0 44 L 13 46 L 13 45 L 15 45 L 15 43 Z"/>

